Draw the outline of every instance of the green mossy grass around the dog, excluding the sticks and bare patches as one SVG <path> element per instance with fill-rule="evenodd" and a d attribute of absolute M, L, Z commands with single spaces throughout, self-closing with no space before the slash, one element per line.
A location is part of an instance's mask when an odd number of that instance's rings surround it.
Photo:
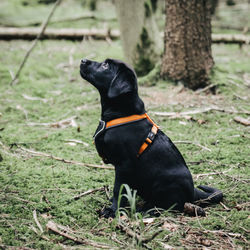
<path fill-rule="evenodd" d="M 117 239 L 128 244 L 127 247 L 144 248 L 145 245 L 140 245 L 118 230 L 114 223 L 110 224 L 105 219 L 100 220 L 97 210 L 109 204 L 105 193 L 96 192 L 77 201 L 72 200 L 78 193 L 89 189 L 102 186 L 109 186 L 112 189 L 114 180 L 112 170 L 97 170 L 46 157 L 34 157 L 16 146 L 17 144 L 26 149 L 67 160 L 101 164 L 101 159 L 92 144 L 92 135 L 100 116 L 99 96 L 92 86 L 80 78 L 79 61 L 85 56 L 96 60 L 106 57 L 123 59 L 120 42 L 117 41 L 112 46 L 101 41 L 82 44 L 66 41 L 40 42 L 25 65 L 19 83 L 13 87 L 9 85 L 8 71 L 16 71 L 29 43 L 1 42 L 0 47 L 0 61 L 3 65 L 0 72 L 0 141 L 5 145 L 5 147 L 0 146 L 0 154 L 3 157 L 3 161 L 0 162 L 1 244 L 30 248 L 60 248 L 57 243 L 62 238 L 45 230 L 49 219 L 42 216 L 47 214 L 53 221 L 78 231 L 77 235 L 83 238 L 105 242 L 115 247 L 119 246 L 111 240 L 111 234 L 115 232 Z M 217 96 L 200 94 L 206 98 L 206 103 L 194 107 L 190 107 L 192 103 L 185 101 L 172 105 L 159 103 L 154 106 L 148 101 L 146 106 L 149 114 L 151 113 L 172 140 L 197 142 L 211 150 L 201 150 L 192 144 L 178 144 L 186 161 L 190 162 L 189 167 L 194 174 L 195 184 L 220 188 L 225 193 L 224 204 L 230 211 L 226 211 L 221 205 L 207 208 L 208 216 L 200 218 L 199 221 L 183 215 L 163 213 L 152 225 L 137 229 L 132 226 L 142 235 L 150 235 L 157 231 L 159 225 L 166 219 L 175 218 L 176 224 L 181 225 L 181 218 L 185 218 L 184 228 L 171 233 L 164 230 L 147 243 L 148 247 L 154 249 L 161 248 L 162 244 L 198 246 L 197 242 L 191 244 L 186 241 L 189 235 L 185 234 L 187 228 L 191 228 L 190 235 L 203 232 L 203 238 L 210 240 L 214 246 L 217 246 L 222 238 L 209 230 L 231 233 L 232 236 L 231 234 L 225 236 L 225 239 L 232 240 L 232 244 L 236 246 L 246 247 L 244 239 L 248 237 L 246 230 L 249 228 L 248 127 L 233 121 L 236 114 L 222 112 L 198 114 L 194 118 L 206 121 L 200 125 L 182 119 L 157 117 L 152 113 L 160 110 L 184 111 L 212 104 L 239 111 L 248 109 L 247 101 L 235 97 L 235 94 L 242 97 L 248 95 L 244 82 L 250 73 L 246 67 L 247 49 L 239 50 L 236 46 L 216 45 L 213 51 L 216 62 L 213 82 L 219 86 Z M 69 57 L 72 59 L 69 60 Z M 142 98 L 147 96 L 145 91 L 164 92 L 168 98 L 171 91 L 177 88 L 169 83 L 159 82 L 154 87 L 142 87 L 140 91 Z M 189 90 L 184 92 L 187 96 L 193 95 Z M 24 95 L 43 98 L 46 102 L 25 99 Z M 76 116 L 78 127 L 52 128 L 28 125 L 31 122 L 57 122 L 72 116 Z M 185 125 L 180 121 L 185 122 Z M 84 141 L 89 146 L 66 144 L 65 140 L 70 139 Z M 213 172 L 225 173 L 197 178 L 198 174 Z M 112 195 L 111 191 L 109 195 Z M 32 230 L 32 226 L 37 228 L 33 218 L 34 210 L 37 211 L 39 221 L 45 230 L 44 235 L 49 240 L 41 239 Z M 101 230 L 102 234 L 98 230 Z M 223 238 L 223 244 L 227 246 L 225 239 Z M 63 241 L 63 244 L 74 245 L 71 241 Z"/>

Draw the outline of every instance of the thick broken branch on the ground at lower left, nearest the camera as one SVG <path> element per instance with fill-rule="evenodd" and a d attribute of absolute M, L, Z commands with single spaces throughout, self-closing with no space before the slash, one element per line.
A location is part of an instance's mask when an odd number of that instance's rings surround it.
<path fill-rule="evenodd" d="M 53 222 L 51 220 L 48 221 L 46 227 L 49 230 L 51 230 L 52 232 L 54 232 L 54 233 L 56 233 L 56 234 L 58 234 L 60 236 L 63 236 L 65 238 L 69 239 L 69 240 L 72 240 L 72 241 L 74 241 L 77 244 L 93 246 L 93 247 L 96 247 L 96 248 L 112 249 L 111 246 L 99 244 L 99 243 L 94 242 L 94 241 L 85 240 L 85 239 L 79 238 L 79 237 L 77 237 L 75 235 L 71 235 L 72 230 L 67 229 L 66 227 L 60 226 L 60 225 L 56 224 L 55 222 Z M 61 228 L 63 227 L 63 231 L 60 230 L 60 227 Z"/>

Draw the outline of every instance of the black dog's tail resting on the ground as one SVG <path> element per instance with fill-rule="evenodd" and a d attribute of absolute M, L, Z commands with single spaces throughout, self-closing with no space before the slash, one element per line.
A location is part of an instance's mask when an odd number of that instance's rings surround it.
<path fill-rule="evenodd" d="M 223 194 L 220 190 L 204 185 L 198 186 L 199 189 L 194 189 L 194 202 L 205 207 L 209 204 L 220 203 L 223 199 Z"/>

